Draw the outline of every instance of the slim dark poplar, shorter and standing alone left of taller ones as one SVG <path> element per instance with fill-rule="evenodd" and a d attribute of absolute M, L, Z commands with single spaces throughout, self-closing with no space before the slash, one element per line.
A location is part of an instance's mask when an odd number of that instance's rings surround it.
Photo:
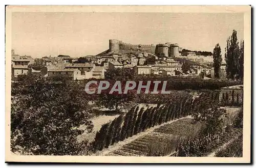
<path fill-rule="evenodd" d="M 212 56 L 214 58 L 214 76 L 216 78 L 220 78 L 221 76 L 221 63 L 222 63 L 222 57 L 221 57 L 221 46 L 216 44 L 214 48 L 214 54 Z"/>

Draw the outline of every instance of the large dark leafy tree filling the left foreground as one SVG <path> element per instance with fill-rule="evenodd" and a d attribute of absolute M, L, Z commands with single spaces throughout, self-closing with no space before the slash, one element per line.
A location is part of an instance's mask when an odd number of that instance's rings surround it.
<path fill-rule="evenodd" d="M 88 142 L 77 141 L 77 136 L 93 128 L 86 95 L 68 82 L 38 76 L 20 79 L 12 83 L 11 150 L 34 155 L 84 154 Z"/>

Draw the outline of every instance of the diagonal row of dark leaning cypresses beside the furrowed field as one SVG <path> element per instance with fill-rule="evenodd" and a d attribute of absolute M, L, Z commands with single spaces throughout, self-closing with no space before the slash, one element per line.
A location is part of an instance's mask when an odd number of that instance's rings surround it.
<path fill-rule="evenodd" d="M 99 132 L 97 132 L 93 146 L 97 150 L 102 150 L 103 147 L 108 147 L 115 139 L 115 143 L 123 141 L 125 138 L 133 136 L 147 128 L 160 125 L 170 120 L 178 119 L 190 114 L 193 106 L 193 97 L 187 93 L 169 95 L 169 99 L 163 106 L 160 104 L 156 107 L 149 107 L 144 109 L 133 107 L 125 116 L 123 116 L 123 123 L 117 123 L 118 119 L 103 125 Z M 120 116 L 119 116 L 120 117 Z M 121 121 L 119 119 L 119 121 Z M 111 127 L 111 125 L 113 125 Z M 115 130 L 113 130 L 115 128 Z M 112 131 L 110 131 L 112 130 Z M 118 132 L 116 132 L 118 130 Z M 115 133 L 113 133 L 115 132 Z"/>

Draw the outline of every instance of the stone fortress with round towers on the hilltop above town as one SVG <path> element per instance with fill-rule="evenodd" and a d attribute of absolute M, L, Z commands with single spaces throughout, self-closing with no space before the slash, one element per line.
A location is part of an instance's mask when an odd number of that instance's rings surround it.
<path fill-rule="evenodd" d="M 141 44 L 128 44 L 124 43 L 120 40 L 116 39 L 110 39 L 109 40 L 109 49 L 101 52 L 97 55 L 103 55 L 108 53 L 114 53 L 116 51 L 138 51 L 138 52 L 148 52 L 156 54 L 158 57 L 177 57 L 179 56 L 179 51 L 182 50 L 182 48 L 179 48 L 179 45 L 176 44 L 150 44 L 150 45 L 141 45 Z"/>

